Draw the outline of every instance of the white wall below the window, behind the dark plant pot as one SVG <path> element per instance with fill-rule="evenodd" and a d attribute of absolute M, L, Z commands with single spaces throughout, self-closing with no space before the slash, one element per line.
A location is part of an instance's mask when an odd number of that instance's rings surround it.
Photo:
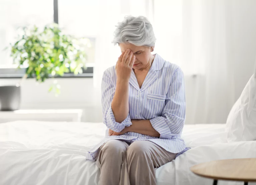
<path fill-rule="evenodd" d="M 100 122 L 100 91 L 93 88 L 92 78 L 57 78 L 61 93 L 55 97 L 48 93 L 52 79 L 36 83 L 26 79 L 21 84 L 20 109 L 83 109 L 82 121 Z M 0 79 L 0 85 L 15 85 L 20 79 Z"/>

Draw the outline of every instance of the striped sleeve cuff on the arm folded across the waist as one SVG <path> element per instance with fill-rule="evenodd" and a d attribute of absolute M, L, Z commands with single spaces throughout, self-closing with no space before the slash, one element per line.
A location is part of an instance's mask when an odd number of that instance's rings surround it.
<path fill-rule="evenodd" d="M 162 116 L 150 119 L 153 128 L 160 134 L 160 139 L 169 139 L 172 137 L 170 128 Z"/>

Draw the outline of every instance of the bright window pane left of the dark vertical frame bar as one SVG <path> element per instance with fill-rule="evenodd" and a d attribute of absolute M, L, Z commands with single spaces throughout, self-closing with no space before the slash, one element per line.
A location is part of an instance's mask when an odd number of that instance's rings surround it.
<path fill-rule="evenodd" d="M 3 51 L 16 41 L 17 29 L 28 25 L 43 27 L 53 22 L 53 0 L 0 1 L 0 65 L 13 63 L 10 51 Z"/>

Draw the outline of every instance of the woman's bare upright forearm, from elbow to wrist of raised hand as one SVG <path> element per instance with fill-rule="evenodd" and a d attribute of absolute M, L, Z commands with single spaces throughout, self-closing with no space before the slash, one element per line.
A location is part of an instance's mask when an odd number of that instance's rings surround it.
<path fill-rule="evenodd" d="M 111 103 L 115 121 L 121 123 L 129 114 L 129 81 L 118 80 Z"/>

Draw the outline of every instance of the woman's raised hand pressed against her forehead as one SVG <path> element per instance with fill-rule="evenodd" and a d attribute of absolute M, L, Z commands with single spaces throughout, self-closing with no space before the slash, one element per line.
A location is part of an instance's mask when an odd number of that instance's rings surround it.
<path fill-rule="evenodd" d="M 117 80 L 130 80 L 134 62 L 135 55 L 133 55 L 133 52 L 130 49 L 127 49 L 125 52 L 122 52 L 115 66 Z"/>

